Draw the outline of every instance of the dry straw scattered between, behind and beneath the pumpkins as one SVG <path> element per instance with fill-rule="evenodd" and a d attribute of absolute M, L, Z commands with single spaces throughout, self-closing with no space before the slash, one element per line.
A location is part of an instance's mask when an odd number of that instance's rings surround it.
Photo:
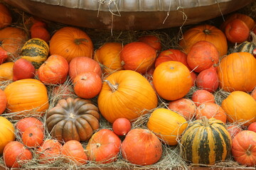
<path fill-rule="evenodd" d="M 28 15 L 27 13 L 24 13 L 23 11 L 19 11 L 16 8 L 11 8 L 11 12 L 14 16 L 14 23 L 12 26 L 17 26 L 19 28 L 23 28 L 26 30 L 28 33 L 29 30 L 29 24 L 26 23 L 28 18 L 31 17 L 31 15 Z M 245 8 L 240 9 L 238 12 L 240 13 L 246 13 L 252 18 L 256 18 L 256 1 L 253 2 L 252 4 L 245 6 Z M 211 25 L 218 26 L 220 23 L 223 22 L 223 16 L 220 16 L 218 18 L 214 18 L 213 20 L 210 21 L 205 21 L 203 23 L 208 23 Z M 48 29 L 51 35 L 55 33 L 56 30 L 62 28 L 63 24 L 61 23 L 53 23 L 50 21 L 45 21 L 48 24 Z M 92 42 L 95 46 L 95 50 L 105 44 L 106 42 L 121 42 L 123 45 L 129 43 L 129 42 L 134 42 L 137 41 L 139 36 L 142 35 L 156 35 L 160 40 L 161 40 L 161 45 L 162 45 L 162 50 L 168 50 L 168 49 L 178 49 L 178 41 L 182 38 L 182 33 L 187 30 L 188 28 L 191 28 L 191 26 L 182 26 L 181 28 L 168 28 L 168 29 L 161 29 L 161 30 L 137 30 L 137 31 L 116 31 L 116 30 L 95 30 L 95 29 L 88 29 L 88 28 L 81 28 L 84 30 L 92 39 Z M 233 45 L 230 45 L 228 53 L 233 52 L 234 47 Z M 1 82 L 0 89 L 4 89 L 8 84 L 11 83 L 11 81 L 2 81 Z M 65 81 L 65 84 L 63 86 L 72 86 L 72 82 L 70 79 Z M 54 94 L 53 95 L 53 89 L 55 89 L 56 85 L 48 85 L 48 95 L 49 95 L 49 102 L 50 106 L 49 108 L 53 108 L 58 100 L 60 98 L 66 98 L 68 97 L 67 95 L 63 94 L 65 92 L 63 89 L 58 91 L 59 94 Z M 192 94 L 194 91 L 197 90 L 196 86 L 193 86 L 191 88 L 191 91 L 188 92 L 186 95 L 186 98 L 191 98 Z M 219 105 L 223 101 L 224 98 L 228 96 L 228 92 L 223 91 L 219 89 L 214 93 L 215 96 L 215 101 Z M 75 94 L 70 95 L 70 97 L 77 97 Z M 92 103 L 95 103 L 97 105 L 97 97 L 92 98 Z M 159 106 L 158 108 L 167 108 L 168 101 L 165 101 L 164 99 L 159 97 Z M 154 111 L 154 109 L 152 110 Z M 132 123 L 132 128 L 146 128 L 146 123 L 147 120 L 149 119 L 150 113 L 152 111 L 149 111 L 149 113 L 140 116 L 137 118 L 137 120 L 134 120 Z M 15 113 L 13 113 L 15 114 Z M 4 113 L 2 116 L 9 118 L 14 125 L 16 125 L 17 120 L 14 120 L 11 118 L 12 114 L 10 113 Z M 29 115 L 28 115 L 29 116 Z M 43 121 L 46 128 L 46 116 L 43 116 L 40 118 L 40 120 Z M 230 123 L 228 125 L 233 125 L 235 123 Z M 240 124 L 242 127 L 242 125 Z M 110 129 L 112 128 L 111 123 L 109 123 L 105 118 L 100 118 L 100 128 L 107 128 Z M 97 131 L 97 130 L 96 130 Z M 95 131 L 95 132 L 96 132 Z M 21 141 L 21 137 L 18 136 L 16 132 L 16 140 Z M 48 130 L 45 132 L 45 139 L 51 139 L 50 133 Z M 122 138 L 123 140 L 123 138 Z M 161 139 L 160 139 L 161 140 Z M 87 145 L 87 142 L 82 142 L 82 145 L 85 147 Z M 112 169 L 131 169 L 131 168 L 136 168 L 136 169 L 189 169 L 189 166 L 198 166 L 198 164 L 187 164 L 180 155 L 180 149 L 177 146 L 169 146 L 165 145 L 163 142 L 163 154 L 159 162 L 156 164 L 150 165 L 150 166 L 136 166 L 134 164 L 130 164 L 126 160 L 122 158 L 122 154 L 119 153 L 118 159 L 116 162 L 112 162 L 110 164 L 97 164 L 97 162 L 88 162 L 86 165 L 81 165 L 78 166 L 74 162 L 65 162 L 63 158 L 60 157 L 60 159 L 57 159 L 55 162 L 49 162 L 49 164 L 39 164 L 39 159 L 36 157 L 36 152 L 34 149 L 31 149 L 33 152 L 33 160 L 31 162 L 28 162 L 27 164 L 23 165 L 23 169 L 48 169 L 50 167 L 58 167 L 58 169 L 86 169 L 86 168 L 104 168 L 104 167 L 111 167 Z M 1 157 L 0 159 L 0 164 L 4 164 L 4 161 Z M 206 166 L 206 165 L 199 165 L 199 166 Z M 219 162 L 216 163 L 213 166 L 209 167 L 243 167 L 239 165 L 237 162 L 234 162 L 233 159 L 230 157 L 227 161 L 225 162 Z"/>

